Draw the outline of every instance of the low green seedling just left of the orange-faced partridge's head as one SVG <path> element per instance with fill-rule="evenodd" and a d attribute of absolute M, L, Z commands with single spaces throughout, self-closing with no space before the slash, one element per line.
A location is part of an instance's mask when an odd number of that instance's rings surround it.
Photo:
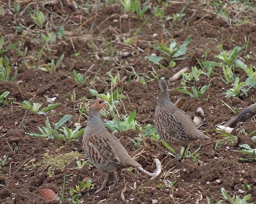
<path fill-rule="evenodd" d="M 21 106 L 21 108 L 26 109 L 26 110 L 30 110 L 30 112 L 34 112 L 34 113 L 38 113 L 38 114 L 45 114 L 45 112 L 56 108 L 57 106 L 59 106 L 60 103 L 54 103 L 54 104 L 49 104 L 47 107 L 42 108 L 40 111 L 40 107 L 42 106 L 40 103 L 33 103 L 31 104 L 29 101 L 23 101 L 23 104 Z"/>

